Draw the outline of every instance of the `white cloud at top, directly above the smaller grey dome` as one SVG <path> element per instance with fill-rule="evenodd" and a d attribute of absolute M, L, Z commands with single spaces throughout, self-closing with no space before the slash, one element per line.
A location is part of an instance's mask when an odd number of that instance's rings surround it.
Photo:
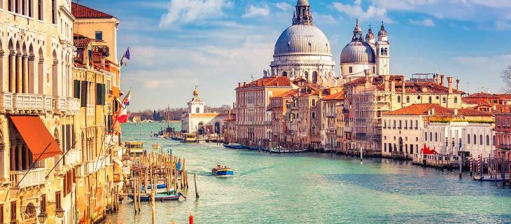
<path fill-rule="evenodd" d="M 332 3 L 333 8 L 341 13 L 348 15 L 351 18 L 358 18 L 358 20 L 383 20 L 388 23 L 392 23 L 391 18 L 387 16 L 387 10 L 382 7 L 374 5 L 367 6 L 367 9 L 362 8 L 362 0 L 353 1 L 353 5 L 348 3 L 334 2 Z"/>

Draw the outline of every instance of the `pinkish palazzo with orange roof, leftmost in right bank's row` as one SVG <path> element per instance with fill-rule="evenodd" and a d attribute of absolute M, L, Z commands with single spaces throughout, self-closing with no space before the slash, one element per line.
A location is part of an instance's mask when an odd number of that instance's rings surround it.
<path fill-rule="evenodd" d="M 295 85 L 284 76 L 260 78 L 251 83 L 238 83 L 235 102 L 237 137 L 249 141 L 270 139 L 272 136 L 270 99 L 293 87 Z"/>

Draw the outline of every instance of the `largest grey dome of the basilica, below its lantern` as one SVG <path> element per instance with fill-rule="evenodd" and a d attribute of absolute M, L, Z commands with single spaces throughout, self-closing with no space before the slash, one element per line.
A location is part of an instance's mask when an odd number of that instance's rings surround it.
<path fill-rule="evenodd" d="M 314 25 L 293 25 L 275 43 L 275 56 L 289 54 L 329 55 L 330 42 Z"/>

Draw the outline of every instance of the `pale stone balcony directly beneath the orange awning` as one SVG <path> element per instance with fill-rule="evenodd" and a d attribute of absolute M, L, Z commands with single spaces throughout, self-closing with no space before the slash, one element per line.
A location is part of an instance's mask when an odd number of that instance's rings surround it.
<path fill-rule="evenodd" d="M 31 169 L 28 174 L 26 170 L 10 172 L 10 186 L 18 188 L 28 188 L 32 186 L 43 185 L 45 182 L 46 168 Z M 25 176 L 25 174 L 27 174 Z M 23 178 L 25 176 L 25 178 Z M 21 182 L 20 182 L 21 181 Z M 19 182 L 19 183 L 18 183 Z"/>

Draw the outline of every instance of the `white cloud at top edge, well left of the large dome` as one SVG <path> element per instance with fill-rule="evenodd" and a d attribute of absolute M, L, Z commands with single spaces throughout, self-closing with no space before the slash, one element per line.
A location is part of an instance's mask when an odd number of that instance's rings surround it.
<path fill-rule="evenodd" d="M 219 18 L 223 9 L 232 5 L 228 0 L 171 0 L 167 13 L 161 17 L 160 27 Z"/>

